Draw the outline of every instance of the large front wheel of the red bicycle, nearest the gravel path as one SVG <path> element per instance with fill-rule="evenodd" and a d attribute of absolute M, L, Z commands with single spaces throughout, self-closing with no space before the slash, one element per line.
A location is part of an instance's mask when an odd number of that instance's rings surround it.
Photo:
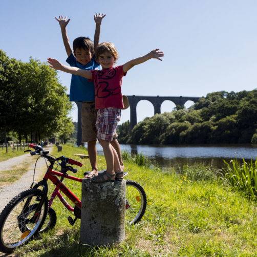
<path fill-rule="evenodd" d="M 18 246 L 27 243 L 40 230 L 47 216 L 48 199 L 41 210 L 35 213 L 41 190 L 29 189 L 14 197 L 0 215 L 0 250 L 11 253 Z M 35 223 L 31 218 L 37 214 Z"/>

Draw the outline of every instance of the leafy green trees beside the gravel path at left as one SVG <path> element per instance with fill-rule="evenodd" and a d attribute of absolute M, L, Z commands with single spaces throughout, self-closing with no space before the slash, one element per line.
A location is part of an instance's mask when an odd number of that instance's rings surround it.
<path fill-rule="evenodd" d="M 0 141 L 67 138 L 74 125 L 66 90 L 47 63 L 22 62 L 0 50 Z"/>

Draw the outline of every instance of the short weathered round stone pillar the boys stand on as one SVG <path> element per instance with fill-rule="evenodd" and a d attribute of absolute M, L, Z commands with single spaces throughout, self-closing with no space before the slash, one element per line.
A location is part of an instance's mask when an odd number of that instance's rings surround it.
<path fill-rule="evenodd" d="M 82 181 L 80 243 L 114 245 L 125 239 L 125 180 Z"/>

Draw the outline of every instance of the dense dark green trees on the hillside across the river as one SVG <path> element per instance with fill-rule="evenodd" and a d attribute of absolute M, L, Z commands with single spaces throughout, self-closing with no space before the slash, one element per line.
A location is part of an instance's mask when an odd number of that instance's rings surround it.
<path fill-rule="evenodd" d="M 189 109 L 119 126 L 119 142 L 135 144 L 257 143 L 257 90 L 213 92 Z"/>

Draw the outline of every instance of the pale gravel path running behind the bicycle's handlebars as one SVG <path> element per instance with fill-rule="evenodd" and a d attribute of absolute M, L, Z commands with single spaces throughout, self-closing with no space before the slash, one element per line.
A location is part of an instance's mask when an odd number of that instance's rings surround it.
<path fill-rule="evenodd" d="M 49 147 L 49 152 L 51 153 L 52 147 Z M 0 186 L 0 212 L 4 209 L 6 204 L 19 192 L 25 191 L 30 188 L 31 183 L 33 182 L 33 174 L 35 167 L 36 158 L 33 158 L 29 153 L 13 157 L 7 161 L 0 162 L 0 172 L 1 170 L 11 170 L 13 167 L 18 164 L 30 163 L 29 170 L 22 177 L 19 178 L 16 182 L 6 185 Z M 42 178 L 42 174 L 46 172 L 47 164 L 45 159 L 40 158 L 37 161 L 36 172 L 35 172 L 35 181 L 39 181 Z"/>

